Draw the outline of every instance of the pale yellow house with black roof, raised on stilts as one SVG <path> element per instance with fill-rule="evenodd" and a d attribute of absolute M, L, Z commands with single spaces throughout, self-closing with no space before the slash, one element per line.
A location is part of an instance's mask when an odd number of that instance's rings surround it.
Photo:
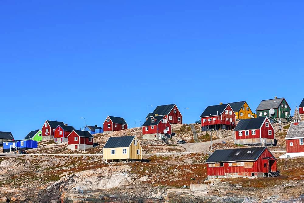
<path fill-rule="evenodd" d="M 103 160 L 141 160 L 141 146 L 136 136 L 110 137 L 103 147 Z"/>

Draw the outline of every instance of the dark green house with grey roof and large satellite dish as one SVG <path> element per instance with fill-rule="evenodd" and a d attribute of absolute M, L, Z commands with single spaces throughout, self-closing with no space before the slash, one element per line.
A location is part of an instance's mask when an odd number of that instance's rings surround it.
<path fill-rule="evenodd" d="M 273 109 L 274 111 L 270 111 Z M 279 122 L 281 118 L 282 122 L 291 121 L 290 107 L 285 98 L 277 98 L 262 100 L 256 109 L 257 117 L 267 116 L 271 122 Z"/>

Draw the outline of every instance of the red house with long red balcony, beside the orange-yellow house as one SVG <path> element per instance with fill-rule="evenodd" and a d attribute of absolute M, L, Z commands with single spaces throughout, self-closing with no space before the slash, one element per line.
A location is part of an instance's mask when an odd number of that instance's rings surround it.
<path fill-rule="evenodd" d="M 209 129 L 233 129 L 236 115 L 230 104 L 208 106 L 200 116 L 202 131 Z"/>

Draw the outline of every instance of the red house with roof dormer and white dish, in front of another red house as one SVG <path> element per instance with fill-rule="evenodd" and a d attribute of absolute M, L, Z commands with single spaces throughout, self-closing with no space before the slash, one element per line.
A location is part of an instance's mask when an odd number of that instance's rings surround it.
<path fill-rule="evenodd" d="M 164 115 L 151 116 L 142 126 L 143 139 L 170 139 L 171 124 Z"/>

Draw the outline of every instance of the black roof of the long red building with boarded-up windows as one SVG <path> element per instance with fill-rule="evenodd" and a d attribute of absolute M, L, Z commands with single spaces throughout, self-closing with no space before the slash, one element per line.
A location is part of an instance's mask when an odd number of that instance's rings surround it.
<path fill-rule="evenodd" d="M 206 163 L 232 162 L 232 161 L 255 161 L 266 147 L 248 147 L 240 149 L 215 150 L 206 160 Z M 236 155 L 238 153 L 238 155 Z"/>

